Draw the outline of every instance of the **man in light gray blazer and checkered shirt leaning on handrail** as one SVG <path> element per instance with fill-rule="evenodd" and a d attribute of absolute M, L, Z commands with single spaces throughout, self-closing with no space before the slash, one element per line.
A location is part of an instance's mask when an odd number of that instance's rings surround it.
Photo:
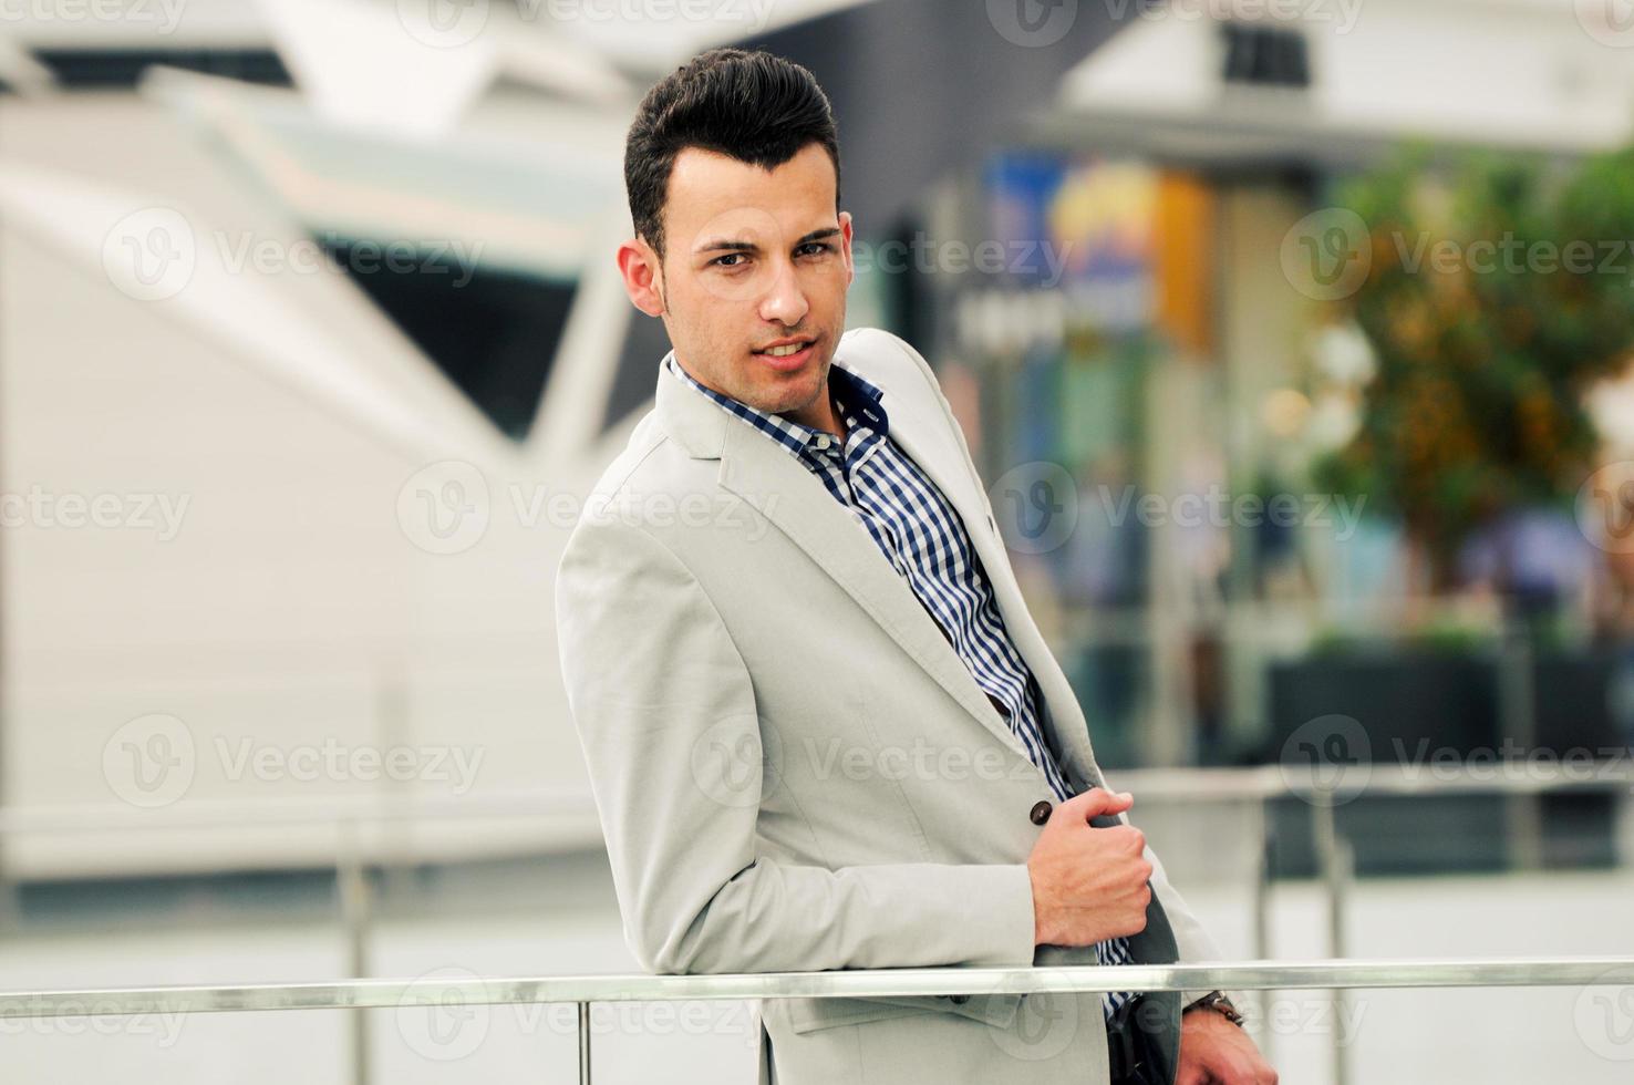
<path fill-rule="evenodd" d="M 1101 786 L 931 369 L 842 335 L 851 217 L 810 74 L 703 54 L 642 101 L 624 175 L 618 263 L 673 350 L 556 606 L 641 964 L 1211 956 Z M 1276 1080 L 1219 992 L 760 1011 L 761 1080 L 789 1085 Z"/>

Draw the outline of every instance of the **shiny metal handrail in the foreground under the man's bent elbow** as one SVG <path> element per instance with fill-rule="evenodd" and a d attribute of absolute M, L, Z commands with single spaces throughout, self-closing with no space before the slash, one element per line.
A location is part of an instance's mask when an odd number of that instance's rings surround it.
<path fill-rule="evenodd" d="M 1392 987 L 1598 987 L 1634 984 L 1634 956 L 1459 961 L 1242 961 L 1044 967 L 842 969 L 716 976 L 353 979 L 333 984 L 111 987 L 0 992 L 0 1018 L 245 1013 L 402 1007 L 866 998 L 1108 990 L 1345 990 Z"/>

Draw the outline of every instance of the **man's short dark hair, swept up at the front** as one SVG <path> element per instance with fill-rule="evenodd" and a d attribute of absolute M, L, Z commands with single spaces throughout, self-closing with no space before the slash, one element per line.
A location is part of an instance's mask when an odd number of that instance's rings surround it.
<path fill-rule="evenodd" d="M 698 54 L 647 92 L 629 126 L 624 190 L 636 234 L 663 258 L 663 201 L 686 147 L 773 170 L 812 142 L 833 162 L 838 208 L 840 136 L 812 74 L 763 49 Z"/>

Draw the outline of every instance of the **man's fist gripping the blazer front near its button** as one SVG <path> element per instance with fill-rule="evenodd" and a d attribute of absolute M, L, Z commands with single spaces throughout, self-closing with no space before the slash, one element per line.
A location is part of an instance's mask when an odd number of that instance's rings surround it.
<path fill-rule="evenodd" d="M 1026 860 L 1034 944 L 1093 946 L 1145 930 L 1152 902 L 1145 835 L 1132 825 L 1090 825 L 1092 817 L 1123 814 L 1132 804 L 1127 791 L 1093 788 L 1051 812 Z"/>

